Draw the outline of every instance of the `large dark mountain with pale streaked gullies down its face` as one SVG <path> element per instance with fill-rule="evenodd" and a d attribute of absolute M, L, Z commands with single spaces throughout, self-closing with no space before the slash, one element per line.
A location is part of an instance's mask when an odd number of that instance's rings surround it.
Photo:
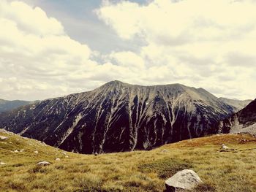
<path fill-rule="evenodd" d="M 151 149 L 217 133 L 233 107 L 203 88 L 120 81 L 0 115 L 0 128 L 79 153 Z"/>

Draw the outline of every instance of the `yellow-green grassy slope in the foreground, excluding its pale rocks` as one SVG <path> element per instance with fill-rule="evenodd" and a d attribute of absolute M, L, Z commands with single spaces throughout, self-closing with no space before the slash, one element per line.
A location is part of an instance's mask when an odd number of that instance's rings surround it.
<path fill-rule="evenodd" d="M 0 165 L 0 191 L 163 191 L 167 177 L 189 167 L 204 182 L 195 191 L 256 191 L 256 139 L 248 135 L 190 139 L 151 151 L 67 153 L 69 157 L 33 139 L 0 135 L 9 137 L 0 141 L 0 161 L 7 163 Z M 222 143 L 238 153 L 219 152 Z M 52 164 L 39 167 L 38 161 Z"/>

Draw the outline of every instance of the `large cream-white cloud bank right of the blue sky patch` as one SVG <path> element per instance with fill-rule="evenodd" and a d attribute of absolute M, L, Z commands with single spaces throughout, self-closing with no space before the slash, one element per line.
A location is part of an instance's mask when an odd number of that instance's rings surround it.
<path fill-rule="evenodd" d="M 96 12 L 122 39 L 145 42 L 136 58 L 151 73 L 141 77 L 146 82 L 246 99 L 256 95 L 255 10 L 255 1 L 154 0 L 103 1 Z"/>

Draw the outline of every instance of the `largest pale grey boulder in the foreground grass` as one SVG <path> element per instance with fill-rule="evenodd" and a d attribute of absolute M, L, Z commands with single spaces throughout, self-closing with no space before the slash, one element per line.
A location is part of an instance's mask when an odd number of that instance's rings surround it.
<path fill-rule="evenodd" d="M 199 183 L 202 183 L 202 180 L 200 180 L 200 177 L 193 170 L 184 169 L 165 180 L 165 187 L 167 191 L 176 192 L 192 190 Z"/>

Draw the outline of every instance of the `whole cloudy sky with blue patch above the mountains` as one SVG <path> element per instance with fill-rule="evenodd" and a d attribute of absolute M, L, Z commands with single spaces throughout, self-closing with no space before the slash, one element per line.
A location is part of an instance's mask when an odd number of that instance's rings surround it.
<path fill-rule="evenodd" d="M 253 0 L 1 0 L 0 98 L 121 80 L 255 99 L 255 10 Z"/>

